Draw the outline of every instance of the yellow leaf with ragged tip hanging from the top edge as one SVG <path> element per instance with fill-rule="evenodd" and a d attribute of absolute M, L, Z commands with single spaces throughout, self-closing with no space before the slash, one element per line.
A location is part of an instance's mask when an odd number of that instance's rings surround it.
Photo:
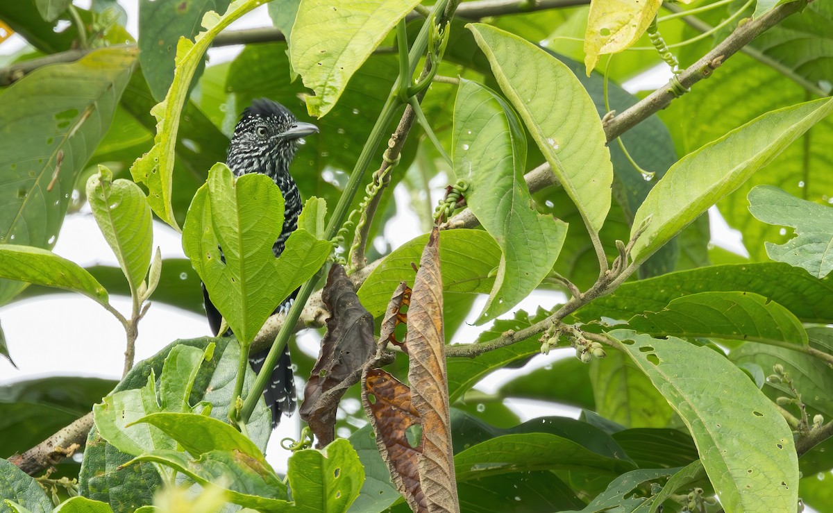
<path fill-rule="evenodd" d="M 603 53 L 618 53 L 645 33 L 660 9 L 661 0 L 591 0 L 584 35 L 587 76 Z"/>

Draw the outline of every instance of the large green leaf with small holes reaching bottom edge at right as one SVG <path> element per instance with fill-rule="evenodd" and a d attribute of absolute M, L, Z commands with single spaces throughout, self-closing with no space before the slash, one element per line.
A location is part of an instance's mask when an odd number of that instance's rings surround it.
<path fill-rule="evenodd" d="M 791 511 L 798 500 L 792 432 L 775 405 L 710 347 L 630 330 L 609 333 L 691 431 L 726 511 Z M 708 393 L 705 393 L 708 391 Z"/>

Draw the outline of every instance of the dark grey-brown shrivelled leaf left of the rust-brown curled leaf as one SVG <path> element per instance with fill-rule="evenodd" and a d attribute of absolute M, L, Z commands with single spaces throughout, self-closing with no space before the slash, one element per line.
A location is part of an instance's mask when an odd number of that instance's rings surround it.
<path fill-rule="evenodd" d="M 299 410 L 321 447 L 335 438 L 338 401 L 358 382 L 357 373 L 376 346 L 373 316 L 359 302 L 355 286 L 339 264 L 330 268 L 322 299 L 331 316 Z"/>

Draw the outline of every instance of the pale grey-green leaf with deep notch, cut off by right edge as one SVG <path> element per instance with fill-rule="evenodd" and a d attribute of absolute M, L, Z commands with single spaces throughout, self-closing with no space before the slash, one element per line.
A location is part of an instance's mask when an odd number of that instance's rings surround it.
<path fill-rule="evenodd" d="M 801 267 L 817 278 L 833 271 L 833 208 L 771 186 L 752 189 L 749 204 L 749 212 L 759 221 L 796 228 L 798 237 L 786 244 L 766 243 L 766 254 L 772 260 Z"/>

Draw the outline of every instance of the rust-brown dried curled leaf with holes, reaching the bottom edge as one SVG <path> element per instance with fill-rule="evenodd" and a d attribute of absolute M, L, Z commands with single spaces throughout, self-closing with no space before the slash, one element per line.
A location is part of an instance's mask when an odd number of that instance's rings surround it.
<path fill-rule="evenodd" d="M 380 346 L 401 322 L 406 288 L 400 286 L 383 321 Z M 460 511 L 451 447 L 448 376 L 442 327 L 442 278 L 439 231 L 431 232 L 422 252 L 407 311 L 407 341 L 411 387 L 365 366 L 362 404 L 376 432 L 382 459 L 391 480 L 413 511 Z"/>

